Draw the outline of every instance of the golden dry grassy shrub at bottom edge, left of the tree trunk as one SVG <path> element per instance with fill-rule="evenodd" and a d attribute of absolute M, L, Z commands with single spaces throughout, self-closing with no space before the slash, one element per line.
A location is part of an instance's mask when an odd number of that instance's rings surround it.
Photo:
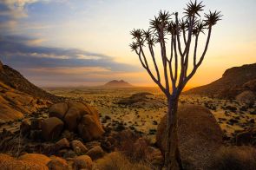
<path fill-rule="evenodd" d="M 150 170 L 144 162 L 132 163 L 128 158 L 119 153 L 107 154 L 102 159 L 96 160 L 93 170 Z"/>

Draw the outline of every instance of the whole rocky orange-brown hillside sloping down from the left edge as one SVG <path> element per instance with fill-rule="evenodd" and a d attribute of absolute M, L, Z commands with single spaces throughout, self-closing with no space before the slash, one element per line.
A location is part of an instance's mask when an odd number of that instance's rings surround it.
<path fill-rule="evenodd" d="M 59 97 L 37 88 L 15 69 L 0 62 L 0 124 L 22 119 L 58 100 Z"/>

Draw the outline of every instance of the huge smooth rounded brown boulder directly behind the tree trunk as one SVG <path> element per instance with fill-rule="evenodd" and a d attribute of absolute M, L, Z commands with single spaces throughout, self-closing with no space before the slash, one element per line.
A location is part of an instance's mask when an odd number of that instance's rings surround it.
<path fill-rule="evenodd" d="M 157 145 L 164 152 L 167 115 L 158 126 Z M 182 105 L 178 109 L 178 138 L 181 160 L 186 169 L 207 169 L 213 154 L 222 146 L 222 131 L 213 114 L 201 106 Z"/>

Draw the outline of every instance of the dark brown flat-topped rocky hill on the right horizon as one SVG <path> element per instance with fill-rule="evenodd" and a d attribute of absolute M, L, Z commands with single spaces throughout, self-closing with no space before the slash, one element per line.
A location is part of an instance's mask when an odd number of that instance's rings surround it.
<path fill-rule="evenodd" d="M 223 99 L 255 100 L 256 63 L 226 69 L 219 80 L 205 86 L 192 88 L 184 94 L 207 95 Z"/>

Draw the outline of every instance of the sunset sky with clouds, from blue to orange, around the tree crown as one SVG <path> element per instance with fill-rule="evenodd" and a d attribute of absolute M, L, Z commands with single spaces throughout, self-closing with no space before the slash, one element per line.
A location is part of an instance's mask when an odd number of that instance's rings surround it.
<path fill-rule="evenodd" d="M 188 0 L 1 0 L 0 60 L 38 86 L 91 86 L 113 79 L 154 86 L 128 44 L 159 10 L 182 12 Z M 256 1 L 205 0 L 221 10 L 207 56 L 189 86 L 213 82 L 256 62 Z M 203 13 L 202 13 L 203 16 Z M 200 43 L 200 46 L 203 42 Z"/>

